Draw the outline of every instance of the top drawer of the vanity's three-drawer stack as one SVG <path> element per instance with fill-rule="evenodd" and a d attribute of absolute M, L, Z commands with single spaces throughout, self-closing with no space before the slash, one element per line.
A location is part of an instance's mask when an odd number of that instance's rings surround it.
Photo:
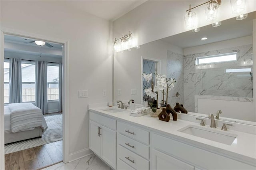
<path fill-rule="evenodd" d="M 137 127 L 126 125 L 124 123 L 117 123 L 117 130 L 121 134 L 124 134 L 125 136 L 128 136 L 130 138 L 133 138 L 135 140 L 138 140 L 140 142 L 143 142 L 145 144 L 149 144 L 149 132 L 139 129 Z"/>

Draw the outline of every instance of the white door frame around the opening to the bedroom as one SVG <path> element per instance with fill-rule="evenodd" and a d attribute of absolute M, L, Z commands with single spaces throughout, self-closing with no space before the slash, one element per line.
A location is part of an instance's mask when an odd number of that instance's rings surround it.
<path fill-rule="evenodd" d="M 0 28 L 0 169 L 4 169 L 4 35 L 22 36 L 63 44 L 63 80 L 62 80 L 62 122 L 63 122 L 63 162 L 69 162 L 69 42 L 40 34 L 31 34 L 18 30 Z"/>

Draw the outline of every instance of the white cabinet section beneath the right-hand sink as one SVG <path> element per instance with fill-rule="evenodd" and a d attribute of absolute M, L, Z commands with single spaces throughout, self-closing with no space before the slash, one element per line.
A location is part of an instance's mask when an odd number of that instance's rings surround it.
<path fill-rule="evenodd" d="M 256 167 L 197 148 L 166 136 L 150 133 L 152 170 L 255 170 Z"/>

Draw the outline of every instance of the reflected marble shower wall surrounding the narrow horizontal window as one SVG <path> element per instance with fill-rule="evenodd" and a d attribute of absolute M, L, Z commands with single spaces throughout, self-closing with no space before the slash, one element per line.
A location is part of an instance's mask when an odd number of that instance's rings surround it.
<path fill-rule="evenodd" d="M 195 95 L 252 97 L 248 72 L 226 73 L 226 69 L 251 68 L 252 45 L 207 51 L 184 56 L 184 106 L 195 111 Z M 237 61 L 196 65 L 196 57 L 237 52 Z"/>

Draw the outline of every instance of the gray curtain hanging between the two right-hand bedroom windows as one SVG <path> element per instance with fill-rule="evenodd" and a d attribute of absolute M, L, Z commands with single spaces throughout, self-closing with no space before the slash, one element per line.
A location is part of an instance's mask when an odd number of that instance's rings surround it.
<path fill-rule="evenodd" d="M 47 61 L 36 61 L 36 106 L 48 113 Z"/>

